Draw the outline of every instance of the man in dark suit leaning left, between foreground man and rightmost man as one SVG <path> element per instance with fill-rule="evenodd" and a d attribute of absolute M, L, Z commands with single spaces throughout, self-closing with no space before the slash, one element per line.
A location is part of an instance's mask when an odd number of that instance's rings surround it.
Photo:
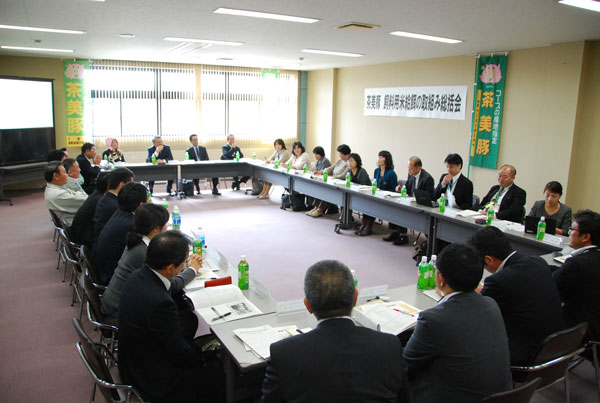
<path fill-rule="evenodd" d="M 550 267 L 538 256 L 523 256 L 496 227 L 477 231 L 469 244 L 492 273 L 481 295 L 494 298 L 508 335 L 511 365 L 528 365 L 540 342 L 563 328 L 562 306 Z"/>

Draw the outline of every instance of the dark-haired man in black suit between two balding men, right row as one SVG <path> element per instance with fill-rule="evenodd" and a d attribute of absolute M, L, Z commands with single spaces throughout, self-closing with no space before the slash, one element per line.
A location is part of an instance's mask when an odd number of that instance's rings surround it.
<path fill-rule="evenodd" d="M 461 173 L 462 157 L 448 154 L 444 162 L 448 173 L 441 176 L 433 197 L 439 199 L 445 193 L 448 206 L 461 210 L 470 209 L 473 206 L 473 182 Z"/>

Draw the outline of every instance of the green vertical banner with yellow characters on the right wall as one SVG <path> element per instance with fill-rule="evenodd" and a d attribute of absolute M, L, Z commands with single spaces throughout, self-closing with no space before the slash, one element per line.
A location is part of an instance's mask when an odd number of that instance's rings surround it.
<path fill-rule="evenodd" d="M 471 166 L 496 169 L 506 82 L 506 59 L 506 55 L 477 58 L 473 130 L 469 152 Z"/>

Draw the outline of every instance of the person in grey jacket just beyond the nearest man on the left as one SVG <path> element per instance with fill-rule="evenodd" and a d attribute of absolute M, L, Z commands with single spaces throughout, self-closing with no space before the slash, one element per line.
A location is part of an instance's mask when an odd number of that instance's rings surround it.
<path fill-rule="evenodd" d="M 127 234 L 127 247 L 102 295 L 102 310 L 113 318 L 119 317 L 119 299 L 125 282 L 135 270 L 144 265 L 148 244 L 156 235 L 167 230 L 169 211 L 159 204 L 142 204 L 135 210 L 133 231 Z M 197 255 L 192 255 L 197 256 Z M 193 257 L 190 267 L 171 279 L 171 293 L 177 291 L 196 277 L 202 267 L 202 259 Z"/>

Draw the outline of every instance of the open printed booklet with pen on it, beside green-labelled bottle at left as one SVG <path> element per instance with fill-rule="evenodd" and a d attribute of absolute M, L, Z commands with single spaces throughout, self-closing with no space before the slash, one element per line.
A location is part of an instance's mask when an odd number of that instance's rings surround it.
<path fill-rule="evenodd" d="M 187 292 L 198 315 L 208 324 L 229 322 L 262 312 L 233 285 L 202 288 Z"/>

